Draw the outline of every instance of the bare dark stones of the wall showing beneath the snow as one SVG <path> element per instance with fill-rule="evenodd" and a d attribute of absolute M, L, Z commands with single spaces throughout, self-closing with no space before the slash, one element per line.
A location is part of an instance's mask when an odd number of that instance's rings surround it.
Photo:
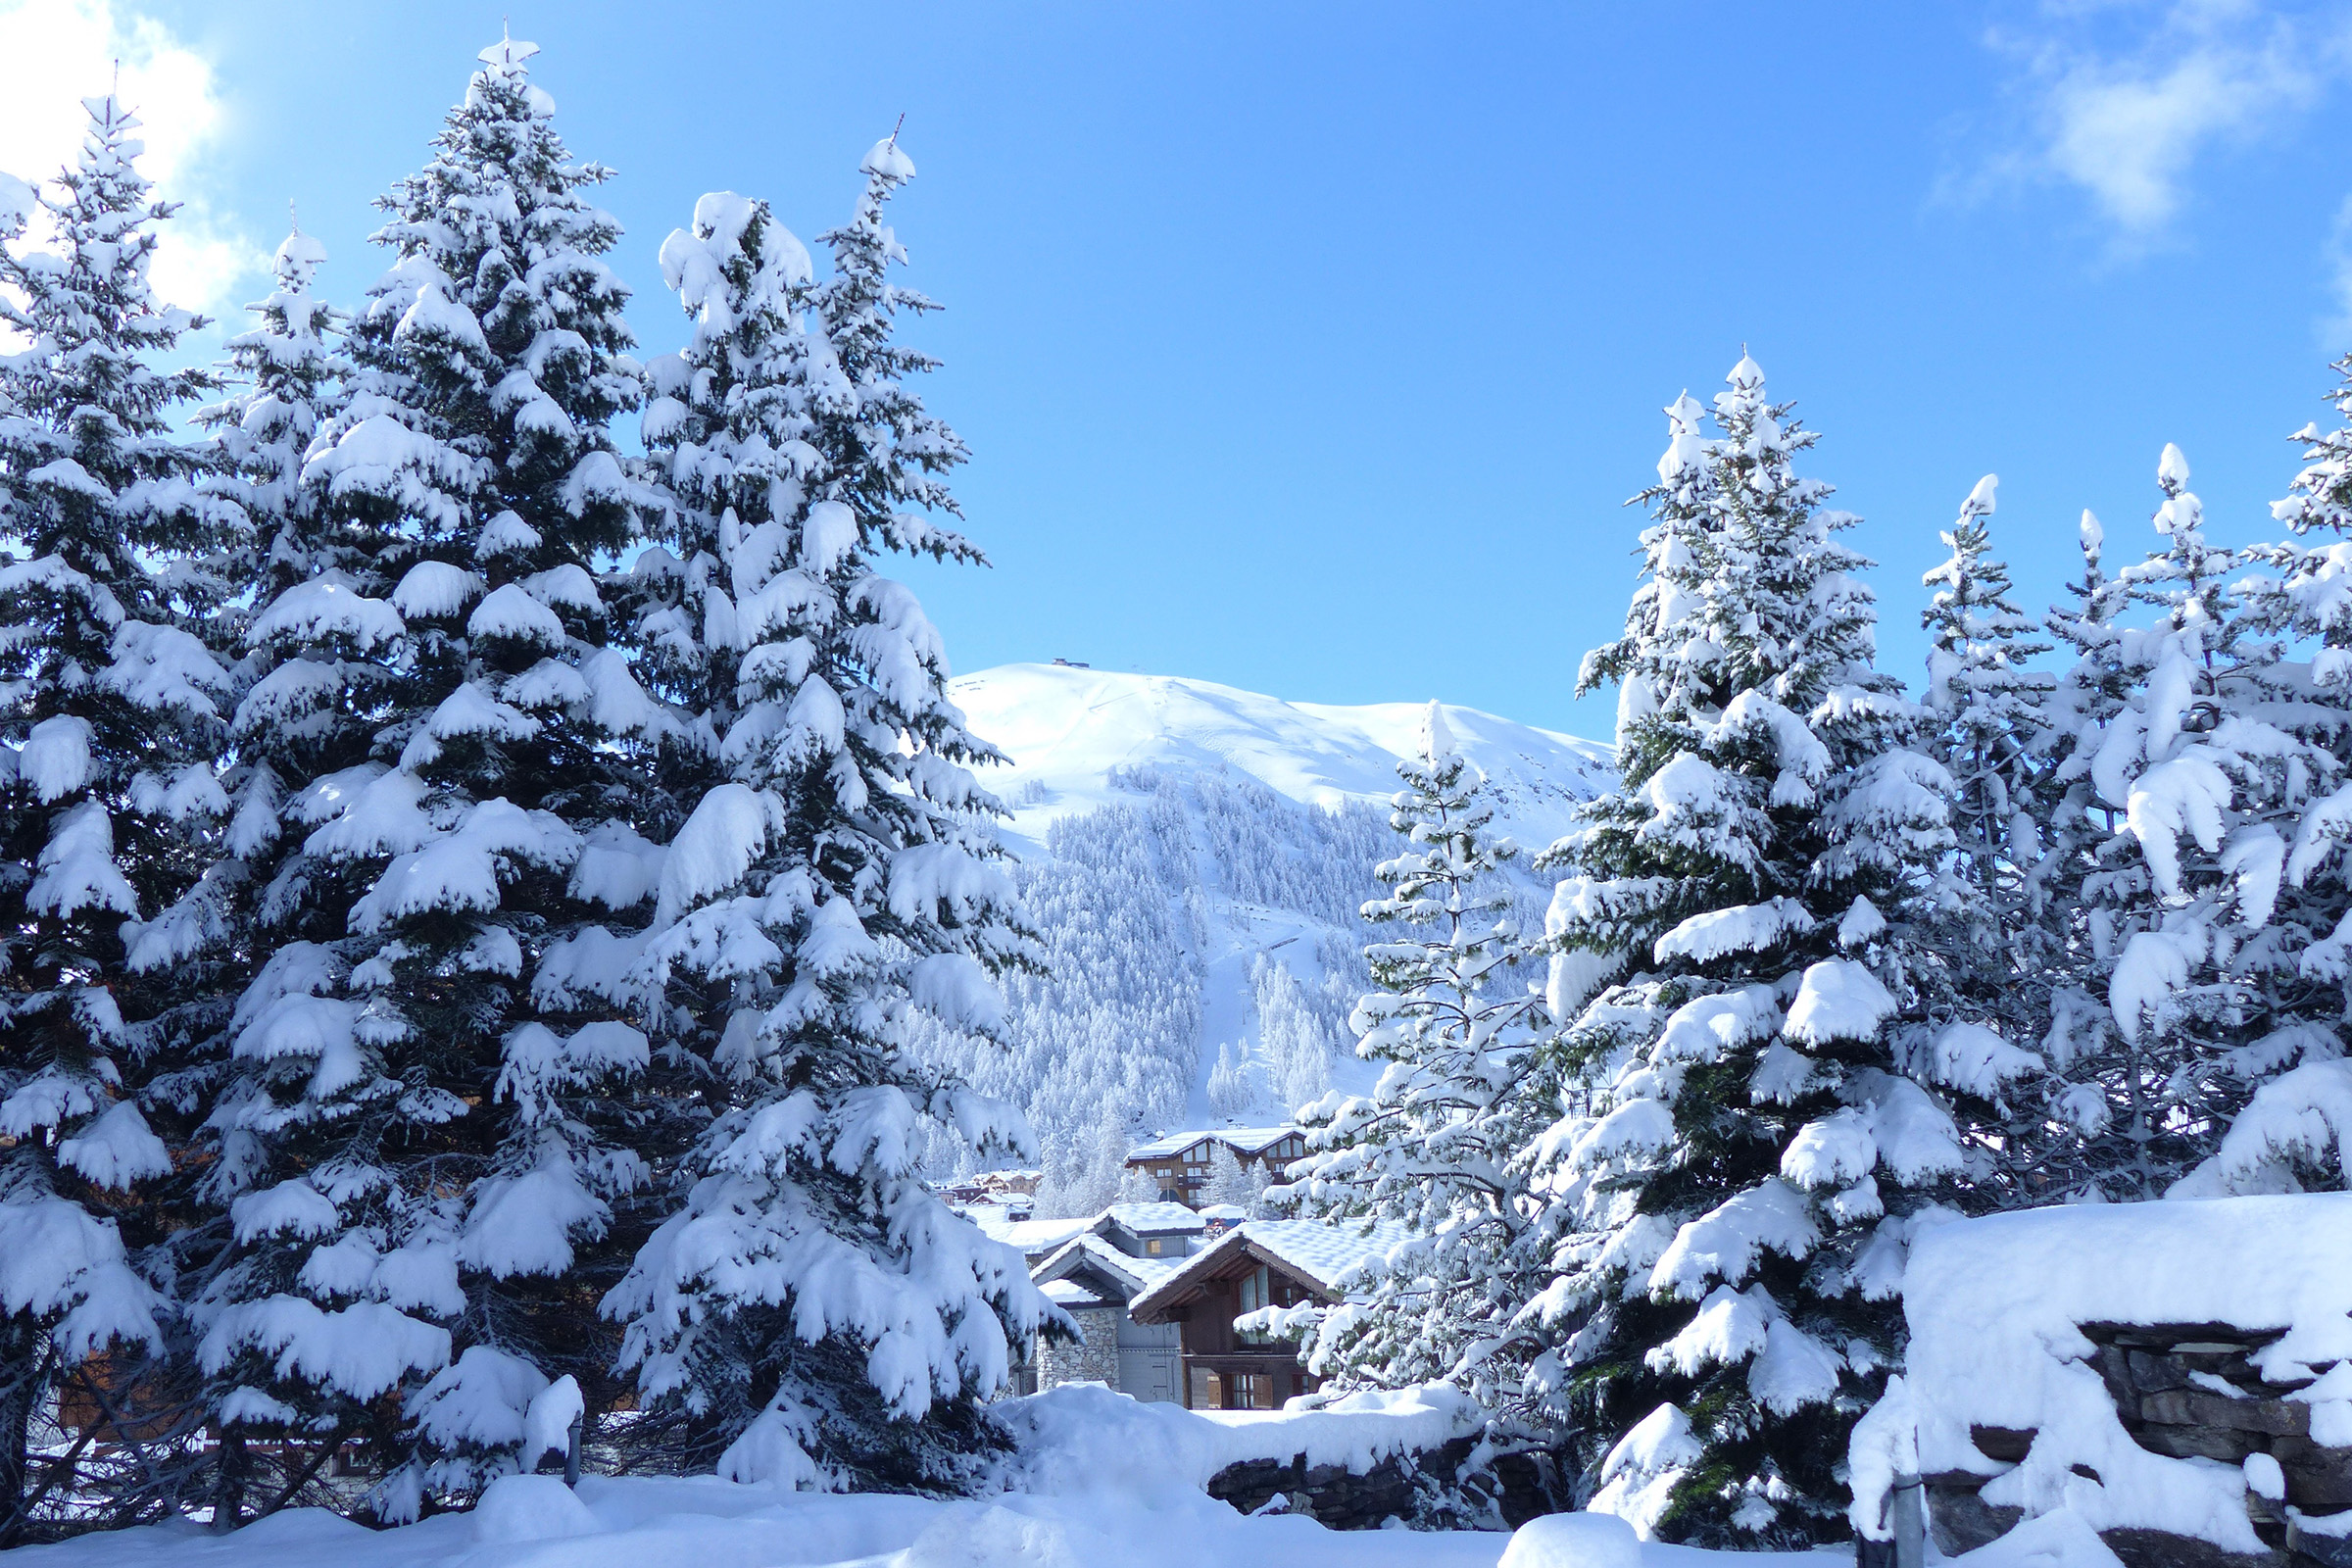
<path fill-rule="evenodd" d="M 2227 1554 L 2220 1547 L 2157 1530 L 2110 1530 L 2107 1547 L 2126 1568 L 2352 1568 L 2352 1537 L 2307 1535 L 2288 1507 L 2303 1514 L 2352 1509 L 2352 1448 L 2312 1441 L 2310 1406 L 2286 1399 L 2310 1380 L 2265 1382 L 2251 1366 L 2253 1352 L 2277 1335 L 2249 1335 L 2223 1324 L 2117 1326 L 2084 1324 L 2098 1345 L 2091 1366 L 2107 1382 L 2124 1432 L 2176 1460 L 2244 1465 L 2267 1453 L 2286 1476 L 2286 1500 L 2249 1493 L 2246 1512 L 2267 1556 Z M 1969 1436 L 1987 1460 L 2018 1462 L 2032 1432 L 1971 1427 Z M 1929 1521 L 1945 1554 L 1980 1547 L 2018 1521 L 2018 1509 L 1992 1507 L 1976 1490 L 1985 1476 L 1962 1472 L 1926 1476 Z"/>

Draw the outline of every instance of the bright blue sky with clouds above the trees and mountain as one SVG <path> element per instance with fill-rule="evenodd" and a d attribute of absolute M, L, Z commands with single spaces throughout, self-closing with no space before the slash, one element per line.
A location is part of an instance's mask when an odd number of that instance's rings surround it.
<path fill-rule="evenodd" d="M 513 5 L 616 169 L 647 353 L 694 197 L 804 237 L 906 110 L 931 404 L 990 571 L 910 571 L 955 665 L 1087 658 L 1606 736 L 1661 407 L 1748 343 L 1867 522 L 1882 661 L 1983 473 L 2023 597 L 2129 559 L 2180 442 L 2267 531 L 2352 348 L 2352 19 L 2138 5 Z M 125 54 L 193 200 L 181 284 L 287 200 L 353 301 L 494 5 L 0 0 L 0 167 Z M 92 42 L 101 40 L 101 42 Z M 31 71 L 28 71 L 31 66 Z M 141 75 L 143 73 L 143 75 Z M 14 115 L 14 120 L 9 118 Z M 33 174 L 35 169 L 19 169 Z M 202 247 L 202 249 L 200 249 Z"/>

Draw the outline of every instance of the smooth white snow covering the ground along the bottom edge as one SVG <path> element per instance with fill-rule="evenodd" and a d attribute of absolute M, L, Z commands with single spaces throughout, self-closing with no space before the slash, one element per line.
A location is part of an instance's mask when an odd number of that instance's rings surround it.
<path fill-rule="evenodd" d="M 230 1535 L 200 1526 L 115 1530 L 9 1552 L 9 1568 L 1494 1568 L 1486 1530 L 1327 1530 L 1296 1514 L 1242 1516 L 1200 1483 L 1242 1458 L 1364 1467 L 1395 1446 L 1463 1429 L 1461 1396 L 1357 1396 L 1338 1410 L 1202 1415 L 1098 1385 L 1009 1408 L 1018 1490 L 971 1502 L 790 1493 L 701 1479 L 555 1476 L 492 1483 L 473 1514 L 367 1530 L 294 1509 Z M 1621 1526 L 1611 1526 L 1618 1528 Z M 1740 1554 L 1752 1568 L 1795 1559 Z M 1806 1554 L 1820 1563 L 1818 1554 Z M 1515 1561 L 1529 1563 L 1529 1556 Z M 1717 1554 L 1642 1547 L 1637 1568 L 1722 1568 Z M 1604 1568 L 1536 1559 L 1529 1568 Z"/>

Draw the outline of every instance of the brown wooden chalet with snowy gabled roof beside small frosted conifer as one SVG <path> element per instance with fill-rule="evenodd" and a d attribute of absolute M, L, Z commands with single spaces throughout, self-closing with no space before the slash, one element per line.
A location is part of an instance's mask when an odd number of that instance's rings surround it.
<path fill-rule="evenodd" d="M 1336 1305 L 1355 1267 L 1402 1239 L 1395 1225 L 1249 1220 L 1134 1295 L 1127 1314 L 1138 1326 L 1176 1326 L 1185 1408 L 1279 1410 L 1319 1380 L 1298 1363 L 1296 1345 L 1235 1319 L 1261 1307 Z"/>

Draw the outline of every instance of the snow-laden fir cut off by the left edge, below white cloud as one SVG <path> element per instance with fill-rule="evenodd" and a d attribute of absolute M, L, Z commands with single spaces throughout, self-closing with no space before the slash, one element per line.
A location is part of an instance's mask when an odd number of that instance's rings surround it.
<path fill-rule="evenodd" d="M 172 1173 L 141 1088 L 169 1004 L 127 978 L 200 877 L 226 809 L 214 771 L 228 675 L 188 623 L 200 583 L 155 559 L 235 524 L 169 433 L 200 371 L 155 360 L 200 324 L 148 289 L 155 223 L 139 122 L 85 103 L 80 158 L 40 197 L 54 249 L 0 244 L 0 1530 L 21 1526 L 28 1420 L 89 1356 L 160 1345 L 132 1269 Z M 28 190 L 0 183 L 0 235 Z M 118 1222 L 120 1215 L 120 1222 Z M 125 1234 L 125 1225 L 134 1234 Z M 129 1248 L 129 1251 L 127 1251 Z M 122 1366 L 132 1363 L 125 1354 Z M 82 1380 L 87 1387 L 87 1378 Z"/>

